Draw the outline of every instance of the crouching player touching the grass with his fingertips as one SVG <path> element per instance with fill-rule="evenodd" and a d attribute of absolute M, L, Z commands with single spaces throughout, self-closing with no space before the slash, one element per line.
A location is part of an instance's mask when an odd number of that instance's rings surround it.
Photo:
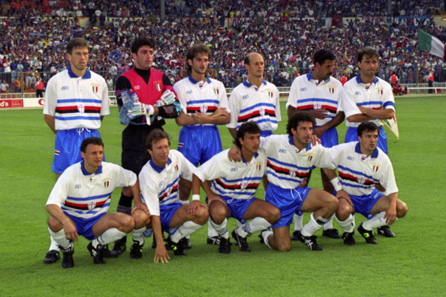
<path fill-rule="evenodd" d="M 195 166 L 180 152 L 169 150 L 169 145 L 169 135 L 159 129 L 152 130 L 145 141 L 150 161 L 141 169 L 139 184 L 150 215 L 141 209 L 135 209 L 132 213 L 135 230 L 132 231 L 130 257 L 133 259 L 142 257 L 146 227 L 152 229 L 156 240 L 154 263 L 167 263 L 169 255 L 163 242 L 163 231 L 170 235 L 166 242 L 174 254 L 185 255 L 179 241 L 201 228 L 209 217 L 207 206 L 200 202 L 199 196 L 191 204 L 180 202 L 178 181 L 180 177 L 191 181 Z"/>

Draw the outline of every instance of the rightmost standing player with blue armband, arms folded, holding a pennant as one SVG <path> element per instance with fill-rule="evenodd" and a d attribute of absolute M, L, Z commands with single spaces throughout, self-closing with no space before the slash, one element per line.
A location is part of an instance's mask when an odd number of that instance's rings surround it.
<path fill-rule="evenodd" d="M 364 121 L 373 121 L 379 128 L 377 146 L 388 154 L 387 136 L 381 119 L 392 119 L 395 115 L 395 98 L 390 84 L 375 76 L 378 59 L 379 54 L 375 49 L 364 48 L 358 51 L 357 67 L 361 73 L 344 84 L 342 110 L 349 127 L 345 142 L 357 141 L 357 126 Z M 379 228 L 378 233 L 385 237 L 395 237 L 388 226 Z"/>

